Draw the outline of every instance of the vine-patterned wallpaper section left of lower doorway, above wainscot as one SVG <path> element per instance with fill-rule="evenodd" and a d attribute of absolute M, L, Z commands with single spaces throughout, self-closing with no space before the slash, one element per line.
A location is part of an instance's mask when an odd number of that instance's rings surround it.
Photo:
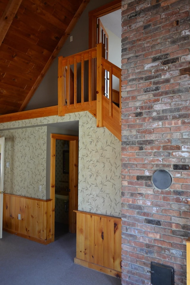
<path fill-rule="evenodd" d="M 46 129 L 34 127 L 1 131 L 5 137 L 4 191 L 45 199 Z M 6 167 L 9 162 L 9 167 Z M 39 191 L 42 185 L 42 191 Z"/>

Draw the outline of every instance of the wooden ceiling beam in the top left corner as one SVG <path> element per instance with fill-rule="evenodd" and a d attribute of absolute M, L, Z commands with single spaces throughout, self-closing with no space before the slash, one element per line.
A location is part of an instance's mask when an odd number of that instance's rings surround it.
<path fill-rule="evenodd" d="M 7 31 L 14 19 L 22 0 L 9 0 L 0 19 L 0 46 L 7 34 Z"/>

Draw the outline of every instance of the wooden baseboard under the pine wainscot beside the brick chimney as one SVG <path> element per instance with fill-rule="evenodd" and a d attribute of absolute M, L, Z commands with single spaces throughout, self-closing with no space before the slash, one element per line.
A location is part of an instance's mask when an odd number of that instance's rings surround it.
<path fill-rule="evenodd" d="M 100 266 L 100 265 L 97 265 L 97 264 L 94 264 L 94 263 L 91 263 L 91 262 L 88 262 L 82 259 L 78 259 L 76 257 L 74 259 L 74 262 L 75 264 L 82 265 L 84 267 L 88 267 L 90 269 L 94 269 L 94 270 L 100 271 L 102 273 L 105 273 L 105 274 L 108 274 L 108 275 L 111 275 L 117 278 L 121 278 L 121 272 L 115 271 L 113 269 L 109 269 L 104 266 Z"/>

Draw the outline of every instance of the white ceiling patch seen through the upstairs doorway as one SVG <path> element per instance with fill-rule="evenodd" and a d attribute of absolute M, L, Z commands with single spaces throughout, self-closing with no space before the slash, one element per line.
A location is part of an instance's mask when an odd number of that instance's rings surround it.
<path fill-rule="evenodd" d="M 121 9 L 100 18 L 103 26 L 121 39 Z"/>

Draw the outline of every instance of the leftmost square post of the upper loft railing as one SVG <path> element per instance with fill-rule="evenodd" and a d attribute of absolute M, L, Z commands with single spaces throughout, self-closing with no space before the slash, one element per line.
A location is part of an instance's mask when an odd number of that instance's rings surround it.
<path fill-rule="evenodd" d="M 58 115 L 64 116 L 62 106 L 65 105 L 63 56 L 58 57 Z"/>

